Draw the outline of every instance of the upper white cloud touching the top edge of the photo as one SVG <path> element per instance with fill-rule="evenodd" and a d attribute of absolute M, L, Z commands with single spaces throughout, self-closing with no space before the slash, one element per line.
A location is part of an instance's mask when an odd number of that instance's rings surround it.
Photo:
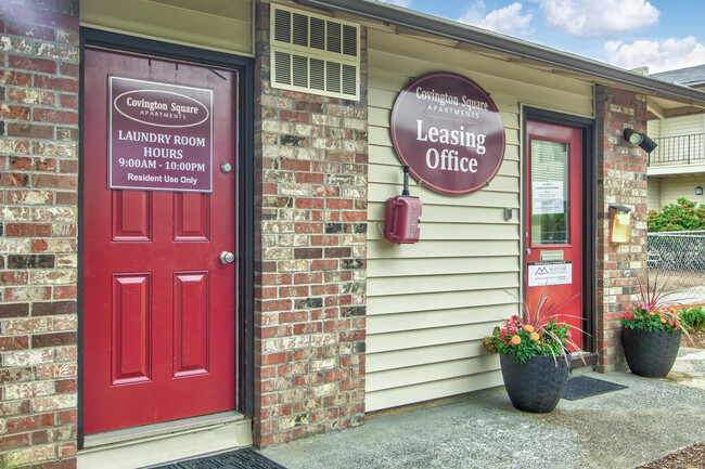
<path fill-rule="evenodd" d="M 658 22 L 645 0 L 539 0 L 546 24 L 580 38 L 618 37 Z"/>

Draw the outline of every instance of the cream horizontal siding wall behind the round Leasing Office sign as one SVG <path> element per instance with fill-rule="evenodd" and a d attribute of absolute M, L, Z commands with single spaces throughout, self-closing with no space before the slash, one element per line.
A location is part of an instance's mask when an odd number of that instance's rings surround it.
<path fill-rule="evenodd" d="M 367 411 L 499 386 L 499 360 L 482 350 L 495 325 L 517 312 L 521 284 L 521 105 L 592 117 L 592 86 L 520 64 L 368 29 L 369 231 Z M 497 104 L 507 146 L 498 175 L 476 193 L 436 194 L 411 179 L 423 201 L 421 240 L 382 236 L 385 201 L 401 194 L 389 136 L 398 92 L 412 77 L 456 71 Z M 513 218 L 504 220 L 504 209 Z"/>

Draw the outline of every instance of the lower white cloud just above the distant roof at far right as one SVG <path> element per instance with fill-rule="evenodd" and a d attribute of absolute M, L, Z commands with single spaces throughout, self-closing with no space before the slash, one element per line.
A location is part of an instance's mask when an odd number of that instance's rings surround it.
<path fill-rule="evenodd" d="M 608 41 L 604 50 L 610 64 L 623 68 L 648 65 L 651 74 L 705 64 L 705 45 L 693 36 L 663 41 L 644 39 L 632 43 Z"/>

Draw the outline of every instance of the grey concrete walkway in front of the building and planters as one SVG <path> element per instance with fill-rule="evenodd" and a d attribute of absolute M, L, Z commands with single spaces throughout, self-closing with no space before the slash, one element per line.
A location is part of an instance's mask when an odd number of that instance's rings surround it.
<path fill-rule="evenodd" d="M 681 348 L 666 379 L 587 375 L 629 388 L 550 414 L 515 411 L 500 388 L 262 454 L 289 469 L 616 469 L 705 441 L 705 350 Z"/>

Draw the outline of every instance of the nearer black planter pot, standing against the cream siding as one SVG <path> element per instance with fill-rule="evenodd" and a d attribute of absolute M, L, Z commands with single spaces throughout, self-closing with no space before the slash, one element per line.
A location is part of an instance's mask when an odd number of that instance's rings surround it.
<path fill-rule="evenodd" d="M 518 363 L 514 355 L 499 355 L 504 388 L 518 411 L 546 413 L 555 408 L 568 379 L 563 356 L 533 356 Z"/>

